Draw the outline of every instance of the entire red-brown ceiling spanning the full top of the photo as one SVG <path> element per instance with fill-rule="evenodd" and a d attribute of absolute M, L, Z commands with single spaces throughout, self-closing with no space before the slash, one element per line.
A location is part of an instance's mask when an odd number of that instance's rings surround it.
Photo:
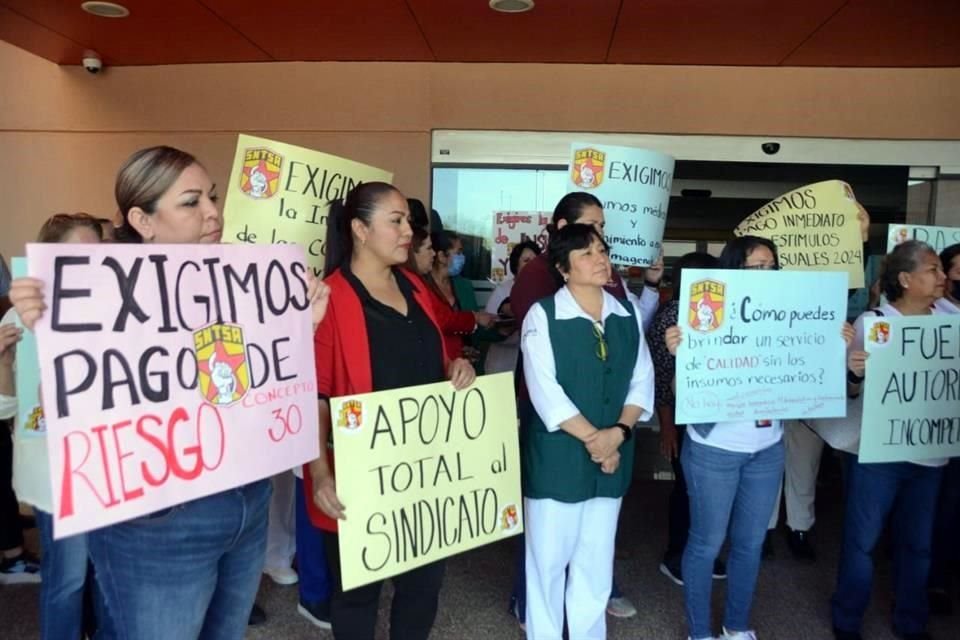
<path fill-rule="evenodd" d="M 0 39 L 61 64 L 269 60 L 960 66 L 960 0 L 0 0 Z"/>

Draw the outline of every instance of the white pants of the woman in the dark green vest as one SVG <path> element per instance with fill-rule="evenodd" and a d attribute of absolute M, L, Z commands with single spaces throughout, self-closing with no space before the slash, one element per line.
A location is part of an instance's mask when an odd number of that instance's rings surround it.
<path fill-rule="evenodd" d="M 573 504 L 524 499 L 527 638 L 560 640 L 564 604 L 570 640 L 607 637 L 621 502 L 621 498 Z"/>

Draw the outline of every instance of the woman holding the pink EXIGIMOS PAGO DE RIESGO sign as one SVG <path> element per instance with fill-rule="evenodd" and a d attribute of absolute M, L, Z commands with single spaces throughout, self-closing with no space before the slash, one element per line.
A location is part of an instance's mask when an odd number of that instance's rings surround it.
<path fill-rule="evenodd" d="M 217 244 L 216 185 L 196 158 L 171 147 L 134 153 L 115 195 L 128 243 Z M 312 281 L 314 326 L 328 289 Z M 29 328 L 46 311 L 43 282 L 19 278 L 10 298 Z M 87 534 L 103 593 L 108 638 L 242 638 L 260 584 L 270 481 L 191 500 Z"/>

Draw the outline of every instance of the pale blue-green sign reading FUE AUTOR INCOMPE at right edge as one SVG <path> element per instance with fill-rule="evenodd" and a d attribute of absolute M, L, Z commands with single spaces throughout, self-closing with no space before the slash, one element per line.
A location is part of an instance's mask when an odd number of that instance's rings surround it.
<path fill-rule="evenodd" d="M 865 318 L 860 462 L 960 456 L 960 315 Z"/>

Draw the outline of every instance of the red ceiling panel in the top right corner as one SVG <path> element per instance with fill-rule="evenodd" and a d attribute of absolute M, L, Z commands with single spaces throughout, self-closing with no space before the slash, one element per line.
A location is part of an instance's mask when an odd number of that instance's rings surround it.
<path fill-rule="evenodd" d="M 960 0 L 851 0 L 785 64 L 960 66 Z"/>

